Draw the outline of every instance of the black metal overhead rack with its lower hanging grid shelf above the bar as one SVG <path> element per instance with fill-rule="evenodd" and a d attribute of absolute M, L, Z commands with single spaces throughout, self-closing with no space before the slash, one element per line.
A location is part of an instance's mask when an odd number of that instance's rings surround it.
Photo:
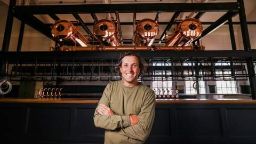
<path fill-rule="evenodd" d="M 243 77 L 245 79 L 249 78 L 252 97 L 255 99 L 256 94 L 256 77 L 255 77 L 255 55 L 256 52 L 251 50 L 250 39 L 247 29 L 247 24 L 254 24 L 256 22 L 247 22 L 245 17 L 245 10 L 244 10 L 244 3 L 243 0 L 237 0 L 234 3 L 157 3 L 157 4 L 97 4 L 97 5 L 43 5 L 43 6 L 16 6 L 16 1 L 10 1 L 9 11 L 7 15 L 7 22 L 4 34 L 4 41 L 2 46 L 2 51 L 0 52 L 0 57 L 2 59 L 2 70 L 6 70 L 8 65 L 13 65 L 13 69 L 11 70 L 16 71 L 13 73 L 2 73 L 2 76 L 10 76 L 10 77 L 21 77 L 22 75 L 18 75 L 18 70 L 22 68 L 19 66 L 23 64 L 31 64 L 33 65 L 34 72 L 26 75 L 28 77 L 34 77 L 37 74 L 37 68 L 39 68 L 39 62 L 44 63 L 45 65 L 50 64 L 50 76 L 52 78 L 58 77 L 56 71 L 54 69 L 59 66 L 59 63 L 66 63 L 70 64 L 71 67 L 74 68 L 74 65 L 81 65 L 81 62 L 77 61 L 100 61 L 105 59 L 107 62 L 114 62 L 119 57 L 119 52 L 20 52 L 21 51 L 21 44 L 22 44 L 22 37 L 23 37 L 23 30 L 25 23 L 30 27 L 34 28 L 35 30 L 39 31 L 40 33 L 44 34 L 45 36 L 52 39 L 51 35 L 51 27 L 48 24 L 43 23 L 42 21 L 38 20 L 34 14 L 49 14 L 50 17 L 54 20 L 58 20 L 56 14 L 73 14 L 73 16 L 79 20 L 80 25 L 85 29 L 86 33 L 88 33 L 92 39 L 94 36 L 91 35 L 91 31 L 87 28 L 89 25 L 93 25 L 93 23 L 84 23 L 83 20 L 79 17 L 78 14 L 80 13 L 90 13 L 94 21 L 97 21 L 98 18 L 95 13 L 134 13 L 134 17 L 136 13 L 140 12 L 157 12 L 157 15 L 161 12 L 174 12 L 173 17 L 171 18 L 170 22 L 159 22 L 159 25 L 166 25 L 164 32 L 161 34 L 159 39 L 156 39 L 156 43 L 164 42 L 164 35 L 167 31 L 171 28 L 173 24 L 176 22 L 174 21 L 175 18 L 181 12 L 198 12 L 196 18 L 202 17 L 205 12 L 226 12 L 222 15 L 217 21 L 215 22 L 202 22 L 203 24 L 210 24 L 208 28 L 203 31 L 202 37 L 211 33 L 215 28 L 224 24 L 229 25 L 230 30 L 230 38 L 232 43 L 232 50 L 233 51 L 148 51 L 148 52 L 139 52 L 139 54 L 145 58 L 148 65 L 150 62 L 153 61 L 162 61 L 164 63 L 170 62 L 171 66 L 170 70 L 174 69 L 183 69 L 180 66 L 174 67 L 174 63 L 177 61 L 188 61 L 190 63 L 197 63 L 196 65 L 200 66 L 200 63 L 204 63 L 204 65 L 209 65 L 206 70 L 209 70 L 209 74 L 207 76 L 202 75 L 202 77 L 213 77 L 216 81 L 217 75 L 214 73 L 215 69 L 218 67 L 212 65 L 212 61 L 228 61 L 230 65 L 226 68 L 231 71 L 231 74 L 228 76 L 223 77 L 233 77 L 234 80 L 238 81 L 238 77 Z M 233 22 L 231 18 L 235 15 L 239 14 L 240 22 Z M 11 38 L 11 31 L 12 31 L 12 22 L 13 18 L 18 18 L 21 20 L 21 29 L 18 41 L 17 52 L 8 52 L 9 45 L 10 45 L 10 38 Z M 158 17 L 158 16 L 156 16 Z M 226 22 L 228 20 L 228 22 Z M 235 45 L 235 38 L 234 38 L 234 30 L 233 25 L 241 25 L 242 30 L 242 38 L 243 38 L 243 45 L 244 51 L 237 51 Z M 121 25 L 133 25 L 133 22 L 121 22 Z M 201 37 L 201 38 L 202 38 Z M 124 39 L 128 43 L 131 42 L 131 39 Z M 197 39 L 198 41 L 199 39 Z M 124 42 L 125 42 L 124 41 Z M 58 65 L 56 65 L 56 63 Z M 246 63 L 247 71 L 244 71 L 244 68 L 236 67 L 236 63 Z M 196 65 L 192 65 L 187 67 L 187 69 L 198 69 Z M 150 66 L 150 65 L 149 65 Z M 149 67 L 150 68 L 150 67 Z M 151 70 L 148 69 L 149 73 L 153 73 L 154 65 L 151 65 Z M 163 71 L 167 67 L 159 68 L 158 70 Z M 30 68 L 31 69 L 31 68 Z M 40 69 L 40 68 L 39 68 Z M 98 67 L 100 69 L 100 67 Z M 244 71 L 243 75 L 238 74 L 236 71 L 241 70 Z M 192 70 L 193 71 L 193 70 Z M 74 72 L 74 73 L 73 73 Z M 74 76 L 76 71 L 73 69 L 71 73 L 68 75 L 70 77 Z M 80 71 L 81 72 L 81 71 Z M 111 68 L 108 72 L 111 71 Z M 201 78 L 198 75 L 198 70 L 188 74 L 188 77 L 194 77 L 192 79 Z M 82 71 L 83 73 L 83 71 Z M 21 74 L 21 73 L 20 73 Z M 173 76 L 174 71 L 171 76 Z M 49 74 L 44 74 L 45 76 L 49 76 Z M 182 73 L 178 74 L 177 77 L 182 77 Z M 151 77 L 154 75 L 151 75 Z M 162 78 L 166 75 L 160 75 Z M 25 75 L 24 75 L 25 77 Z M 148 76 L 149 77 L 149 76 Z M 155 76 L 157 77 L 157 76 Z M 142 77 L 143 78 L 143 77 Z M 146 78 L 146 77 L 145 77 Z M 223 79 L 223 78 L 222 78 Z M 224 78 L 225 79 L 225 78 Z M 70 80 L 73 80 L 72 78 Z M 144 79 L 145 80 L 145 79 Z M 173 79 L 171 79 L 173 80 Z M 177 80 L 177 79 L 176 79 Z M 182 78 L 183 81 L 184 75 Z M 207 79 L 204 79 L 207 80 Z M 209 80 L 209 79 L 208 79 Z M 210 80 L 209 80 L 210 81 Z"/>

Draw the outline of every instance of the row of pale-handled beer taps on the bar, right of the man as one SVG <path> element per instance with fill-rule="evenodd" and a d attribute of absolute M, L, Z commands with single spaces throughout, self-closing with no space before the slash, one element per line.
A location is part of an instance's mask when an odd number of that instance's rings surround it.
<path fill-rule="evenodd" d="M 171 99 L 171 98 L 179 98 L 179 90 L 177 89 L 153 89 L 155 92 L 155 98 L 156 99 Z"/>

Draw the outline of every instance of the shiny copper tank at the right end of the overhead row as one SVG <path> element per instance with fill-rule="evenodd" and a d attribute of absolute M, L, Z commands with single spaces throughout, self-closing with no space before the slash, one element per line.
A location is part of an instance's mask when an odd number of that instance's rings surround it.
<path fill-rule="evenodd" d="M 203 27 L 198 19 L 188 18 L 179 24 L 175 32 L 166 40 L 166 46 L 188 46 L 201 36 Z"/>

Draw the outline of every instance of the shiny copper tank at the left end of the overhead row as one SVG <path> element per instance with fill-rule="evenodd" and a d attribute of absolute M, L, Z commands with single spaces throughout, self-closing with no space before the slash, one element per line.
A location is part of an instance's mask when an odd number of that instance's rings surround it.
<path fill-rule="evenodd" d="M 52 26 L 52 36 L 55 41 L 69 46 L 90 46 L 89 41 L 68 20 L 58 20 Z"/>

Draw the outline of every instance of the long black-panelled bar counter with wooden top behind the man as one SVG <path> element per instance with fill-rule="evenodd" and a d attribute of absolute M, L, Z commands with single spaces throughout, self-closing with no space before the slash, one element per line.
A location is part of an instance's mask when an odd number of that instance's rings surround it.
<path fill-rule="evenodd" d="M 0 98 L 0 143 L 103 143 L 98 102 Z M 256 100 L 157 99 L 146 143 L 256 143 Z"/>

